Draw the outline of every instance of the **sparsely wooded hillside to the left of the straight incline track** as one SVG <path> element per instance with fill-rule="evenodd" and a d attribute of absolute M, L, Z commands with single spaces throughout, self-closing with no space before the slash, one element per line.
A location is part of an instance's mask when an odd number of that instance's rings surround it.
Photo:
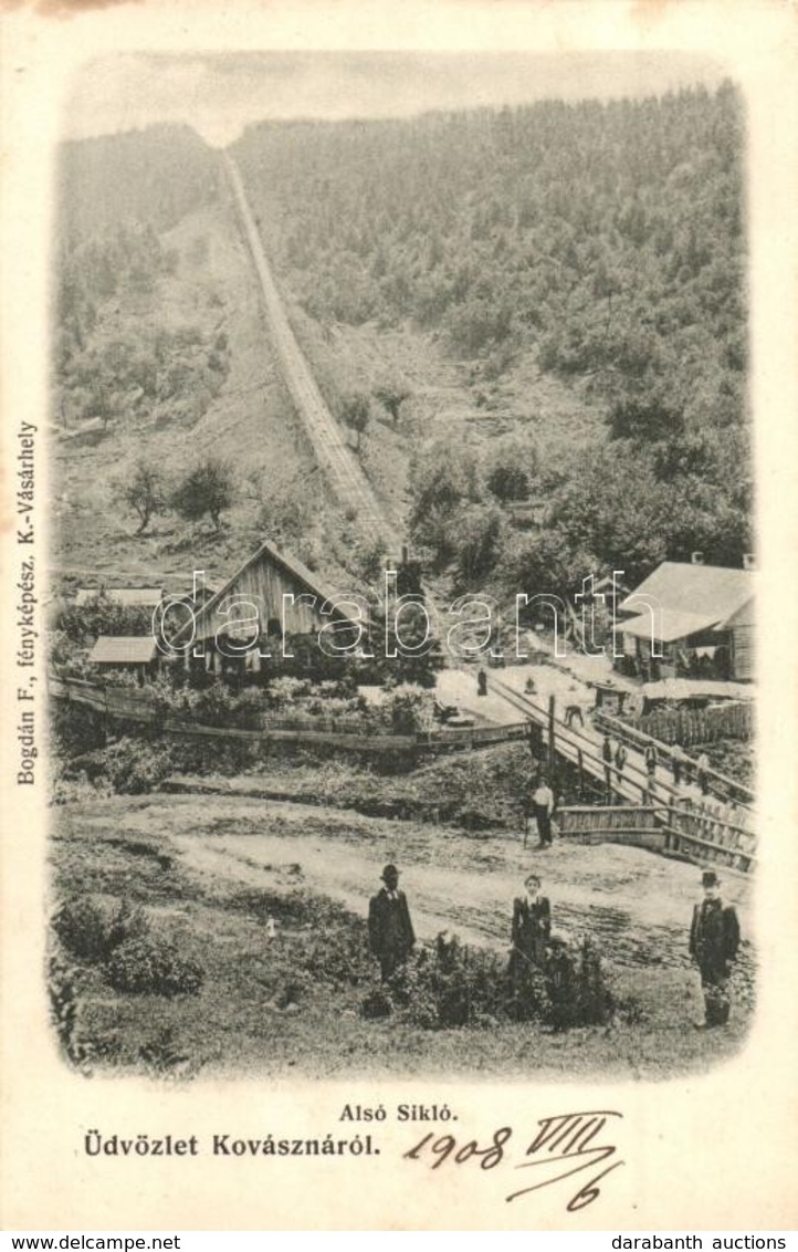
<path fill-rule="evenodd" d="M 314 463 L 220 194 L 219 154 L 188 128 L 156 126 L 68 143 L 59 165 L 59 571 L 181 588 L 195 561 L 218 581 L 264 535 L 290 533 L 293 551 L 334 572 L 318 478 L 313 510 L 296 491 Z"/>

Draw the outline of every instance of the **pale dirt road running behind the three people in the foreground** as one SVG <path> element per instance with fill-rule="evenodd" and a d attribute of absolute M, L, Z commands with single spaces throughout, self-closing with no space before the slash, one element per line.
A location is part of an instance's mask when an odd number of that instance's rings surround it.
<path fill-rule="evenodd" d="M 513 896 L 534 865 L 558 931 L 574 940 L 589 934 L 629 973 L 679 972 L 685 987 L 695 982 L 687 930 L 700 874 L 643 849 L 557 843 L 537 853 L 512 835 L 474 838 L 453 828 L 228 796 L 118 796 L 78 806 L 69 823 L 89 838 L 109 824 L 124 838 L 155 838 L 185 870 L 215 886 L 304 886 L 360 914 L 393 860 L 422 939 L 448 930 L 494 950 L 508 947 Z M 750 884 L 729 875 L 724 886 L 748 938 Z"/>

